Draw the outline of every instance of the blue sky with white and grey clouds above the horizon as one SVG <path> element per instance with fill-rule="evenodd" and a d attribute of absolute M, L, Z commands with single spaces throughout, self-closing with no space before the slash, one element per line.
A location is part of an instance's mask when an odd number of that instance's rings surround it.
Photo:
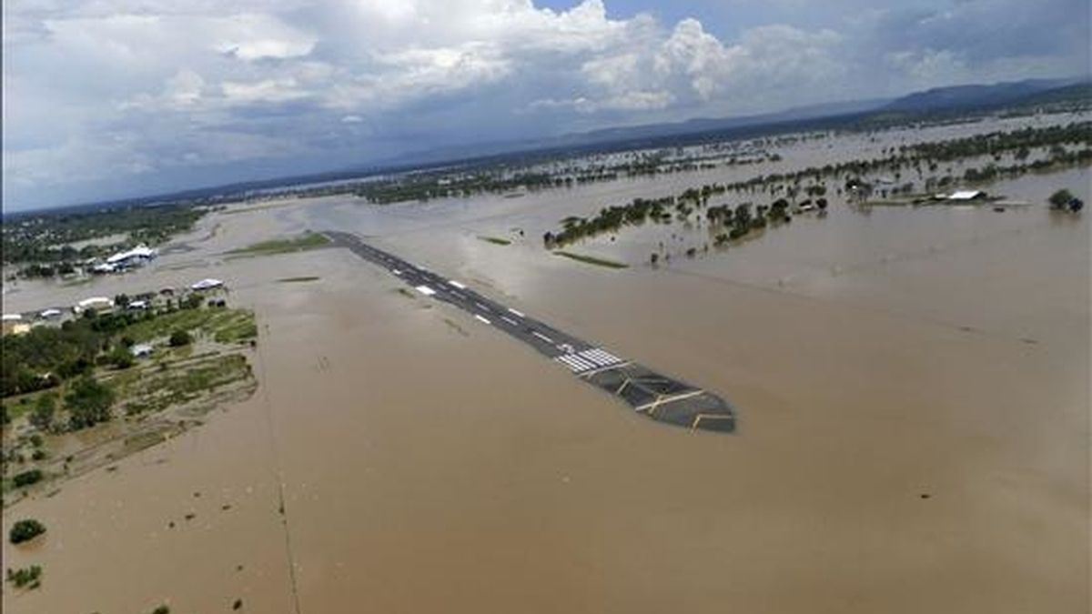
<path fill-rule="evenodd" d="M 5 211 L 1089 72 L 1088 0 L 3 0 Z"/>

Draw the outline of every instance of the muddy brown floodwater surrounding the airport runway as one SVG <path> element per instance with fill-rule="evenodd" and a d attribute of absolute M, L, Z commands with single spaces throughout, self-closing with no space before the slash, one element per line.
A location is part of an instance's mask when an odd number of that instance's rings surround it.
<path fill-rule="evenodd" d="M 1089 214 L 1038 203 L 1089 178 L 995 185 L 1036 203 L 1004 213 L 838 203 L 656 269 L 681 225 L 572 247 L 617 271 L 538 237 L 644 181 L 307 201 L 213 216 L 129 276 L 25 284 L 5 303 L 224 279 L 258 311 L 261 388 L 5 510 L 49 532 L 4 544 L 45 568 L 4 611 L 1087 612 Z M 642 420 L 346 251 L 217 256 L 324 227 L 715 391 L 739 433 Z"/>

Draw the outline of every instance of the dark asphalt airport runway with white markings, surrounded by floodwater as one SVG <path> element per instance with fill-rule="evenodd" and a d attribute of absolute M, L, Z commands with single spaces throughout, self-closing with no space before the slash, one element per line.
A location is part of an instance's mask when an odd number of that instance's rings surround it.
<path fill-rule="evenodd" d="M 336 247 L 387 269 L 420 294 L 447 303 L 530 345 L 584 381 L 625 401 L 652 420 L 705 430 L 731 433 L 735 411 L 723 399 L 677 379 L 660 375 L 607 350 L 559 331 L 521 311 L 474 292 L 397 256 L 377 249 L 351 233 L 323 232 Z"/>

